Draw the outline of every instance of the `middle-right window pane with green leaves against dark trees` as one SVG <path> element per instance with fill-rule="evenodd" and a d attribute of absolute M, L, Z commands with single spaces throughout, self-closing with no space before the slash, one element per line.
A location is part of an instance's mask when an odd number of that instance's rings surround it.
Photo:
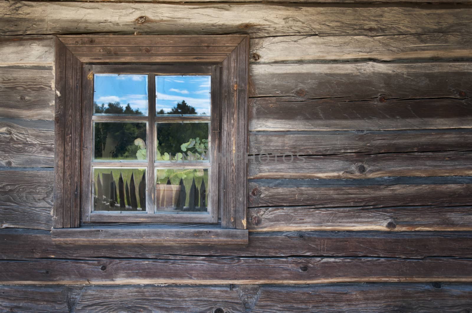
<path fill-rule="evenodd" d="M 156 123 L 157 161 L 208 161 L 209 123 Z"/>

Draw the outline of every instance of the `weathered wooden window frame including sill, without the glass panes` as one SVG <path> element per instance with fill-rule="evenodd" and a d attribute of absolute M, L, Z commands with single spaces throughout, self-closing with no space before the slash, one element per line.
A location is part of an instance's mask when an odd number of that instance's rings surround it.
<path fill-rule="evenodd" d="M 247 243 L 249 36 L 57 36 L 55 53 L 53 240 Z M 210 214 L 190 214 L 206 215 L 206 219 L 192 216 L 196 218 L 192 220 L 189 216 L 180 221 L 177 217 L 187 214 L 146 214 L 149 216 L 142 220 L 138 216 L 131 216 L 136 215 L 131 213 L 126 214 L 132 218 L 128 221 L 178 222 L 181 225 L 190 221 L 217 224 L 187 224 L 173 228 L 172 224 L 165 224 L 163 227 L 158 224 L 107 227 L 88 223 L 123 222 L 119 219 L 110 221 L 90 218 L 91 201 L 86 195 L 90 194 L 88 190 L 91 188 L 91 175 L 88 173 L 91 168 L 90 161 L 87 163 L 87 160 L 90 160 L 92 153 L 92 115 L 90 107 L 84 103 L 90 103 L 93 99 L 93 69 L 100 71 L 103 66 L 108 66 L 110 70 L 119 66 L 120 70 L 129 70 L 135 69 L 136 64 L 178 69 L 172 74 L 196 74 L 193 72 L 198 72 L 198 68 L 201 73 L 202 67 L 209 66 L 212 75 L 211 118 L 213 120 L 213 116 L 219 117 L 215 118 L 215 123 L 211 123 L 211 132 L 217 132 L 218 136 L 215 138 L 219 139 L 215 141 L 218 142 L 218 151 L 212 152 L 219 153 L 219 156 L 214 156 L 218 160 L 218 176 L 213 175 L 216 177 L 213 183 L 218 187 L 218 199 L 214 202 L 217 203 L 218 210 L 213 210 Z M 184 73 L 181 66 L 183 64 L 187 71 Z M 213 89 L 217 92 L 213 92 Z M 155 91 L 149 92 L 148 96 L 152 97 Z M 215 102 L 219 105 L 213 105 Z M 154 118 L 152 115 L 154 114 L 150 112 L 149 123 Z M 155 216 L 152 217 L 153 215 Z"/>

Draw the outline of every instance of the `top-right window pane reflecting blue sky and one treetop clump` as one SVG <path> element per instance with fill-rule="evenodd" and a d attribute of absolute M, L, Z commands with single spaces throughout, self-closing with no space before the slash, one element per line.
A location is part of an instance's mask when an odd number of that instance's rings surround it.
<path fill-rule="evenodd" d="M 210 115 L 210 75 L 156 76 L 156 115 Z"/>

